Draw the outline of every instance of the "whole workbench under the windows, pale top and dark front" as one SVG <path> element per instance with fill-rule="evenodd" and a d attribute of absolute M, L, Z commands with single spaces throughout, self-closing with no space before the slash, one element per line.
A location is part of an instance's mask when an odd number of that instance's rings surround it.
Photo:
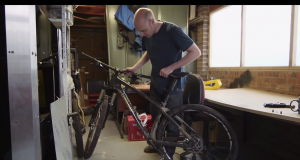
<path fill-rule="evenodd" d="M 205 90 L 205 105 L 224 115 L 236 132 L 237 160 L 299 159 L 300 114 L 290 108 L 263 106 L 290 104 L 297 99 L 298 96 L 251 88 Z"/>

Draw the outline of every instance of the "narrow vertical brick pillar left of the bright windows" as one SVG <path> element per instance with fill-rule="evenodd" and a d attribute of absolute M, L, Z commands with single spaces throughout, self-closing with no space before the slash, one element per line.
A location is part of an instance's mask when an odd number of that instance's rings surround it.
<path fill-rule="evenodd" d="M 207 80 L 209 5 L 198 6 L 197 16 L 203 17 L 203 22 L 199 23 L 199 25 L 197 26 L 197 45 L 202 52 L 202 55 L 197 59 L 197 74 L 199 74 L 203 80 Z"/>

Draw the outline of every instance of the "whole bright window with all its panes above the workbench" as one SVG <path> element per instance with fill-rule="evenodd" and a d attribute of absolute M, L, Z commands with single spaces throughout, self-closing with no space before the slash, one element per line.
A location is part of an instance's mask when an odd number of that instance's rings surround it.
<path fill-rule="evenodd" d="M 209 67 L 300 66 L 298 7 L 230 5 L 213 11 Z"/>

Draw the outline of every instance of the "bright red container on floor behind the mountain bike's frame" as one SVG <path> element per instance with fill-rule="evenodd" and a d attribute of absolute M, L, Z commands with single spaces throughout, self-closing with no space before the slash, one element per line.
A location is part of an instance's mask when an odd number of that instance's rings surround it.
<path fill-rule="evenodd" d="M 148 120 L 147 120 L 146 128 L 150 132 L 152 128 L 152 116 L 150 114 L 148 114 L 147 116 L 148 116 Z M 145 118 L 146 116 L 141 117 L 142 122 L 144 122 Z M 128 120 L 128 126 L 127 126 L 128 141 L 144 141 L 145 140 L 144 135 L 141 132 L 134 118 L 131 115 L 129 115 L 127 116 L 127 120 Z"/>

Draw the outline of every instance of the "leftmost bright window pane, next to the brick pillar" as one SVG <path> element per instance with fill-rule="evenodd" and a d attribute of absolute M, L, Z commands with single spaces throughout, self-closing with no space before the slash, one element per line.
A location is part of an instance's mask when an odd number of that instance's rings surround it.
<path fill-rule="evenodd" d="M 238 67 L 241 55 L 241 5 L 210 15 L 210 67 Z"/>

